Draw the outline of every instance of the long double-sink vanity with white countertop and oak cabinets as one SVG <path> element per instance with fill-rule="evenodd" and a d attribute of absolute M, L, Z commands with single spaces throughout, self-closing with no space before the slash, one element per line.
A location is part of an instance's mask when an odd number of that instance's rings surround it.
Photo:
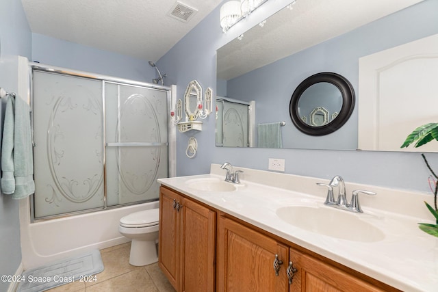
<path fill-rule="evenodd" d="M 346 182 L 348 200 L 353 189 L 378 195 L 361 198 L 362 214 L 332 213 L 316 185 L 326 179 L 239 169 L 240 185 L 224 182 L 219 165 L 159 179 L 159 267 L 177 291 L 436 289 L 437 239 L 417 228 L 430 222 L 422 201 L 432 196 Z M 392 196 L 398 203 L 386 205 Z"/>

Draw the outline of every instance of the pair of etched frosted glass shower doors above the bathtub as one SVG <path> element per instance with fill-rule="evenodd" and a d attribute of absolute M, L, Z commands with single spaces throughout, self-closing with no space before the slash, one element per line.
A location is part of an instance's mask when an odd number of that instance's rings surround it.
<path fill-rule="evenodd" d="M 34 219 L 159 198 L 168 90 L 32 71 Z"/>

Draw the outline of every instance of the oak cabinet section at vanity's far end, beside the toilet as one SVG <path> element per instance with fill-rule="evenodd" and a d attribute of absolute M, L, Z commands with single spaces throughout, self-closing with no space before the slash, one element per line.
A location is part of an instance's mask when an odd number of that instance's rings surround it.
<path fill-rule="evenodd" d="M 177 291 L 214 291 L 216 211 L 160 187 L 158 265 Z"/>

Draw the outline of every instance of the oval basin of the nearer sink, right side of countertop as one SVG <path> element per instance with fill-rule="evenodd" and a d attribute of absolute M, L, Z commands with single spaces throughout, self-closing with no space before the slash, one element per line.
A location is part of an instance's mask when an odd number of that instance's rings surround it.
<path fill-rule="evenodd" d="M 363 214 L 333 207 L 289 206 L 277 209 L 276 215 L 288 224 L 329 237 L 362 242 L 385 238 L 380 229 L 360 218 Z"/>

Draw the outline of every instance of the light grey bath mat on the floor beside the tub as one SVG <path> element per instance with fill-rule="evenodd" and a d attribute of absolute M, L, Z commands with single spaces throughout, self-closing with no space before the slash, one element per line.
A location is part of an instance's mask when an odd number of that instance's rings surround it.
<path fill-rule="evenodd" d="M 103 271 L 101 252 L 92 250 L 72 258 L 28 269 L 21 275 L 18 292 L 39 292 L 73 281 L 90 282 L 94 274 Z"/>

